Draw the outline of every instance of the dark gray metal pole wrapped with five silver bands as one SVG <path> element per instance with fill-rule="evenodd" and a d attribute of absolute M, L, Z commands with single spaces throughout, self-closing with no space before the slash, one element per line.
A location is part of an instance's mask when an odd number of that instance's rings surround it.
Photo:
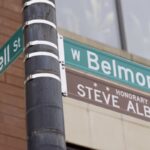
<path fill-rule="evenodd" d="M 65 150 L 55 0 L 24 0 L 28 150 Z"/>

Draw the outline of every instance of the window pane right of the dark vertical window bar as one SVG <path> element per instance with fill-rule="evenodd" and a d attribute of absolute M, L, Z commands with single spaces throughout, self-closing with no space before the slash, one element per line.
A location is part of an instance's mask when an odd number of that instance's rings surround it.
<path fill-rule="evenodd" d="M 150 59 L 150 1 L 121 0 L 127 50 Z"/>

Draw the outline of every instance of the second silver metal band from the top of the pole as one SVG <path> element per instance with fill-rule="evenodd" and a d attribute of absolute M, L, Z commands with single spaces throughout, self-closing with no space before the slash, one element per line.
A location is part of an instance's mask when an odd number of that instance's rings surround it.
<path fill-rule="evenodd" d="M 54 29 L 56 29 L 56 24 L 54 24 L 51 21 L 45 20 L 45 19 L 32 19 L 29 21 L 26 21 L 23 28 L 25 28 L 26 26 L 32 25 L 32 24 L 46 24 L 49 25 L 51 27 L 53 27 Z"/>

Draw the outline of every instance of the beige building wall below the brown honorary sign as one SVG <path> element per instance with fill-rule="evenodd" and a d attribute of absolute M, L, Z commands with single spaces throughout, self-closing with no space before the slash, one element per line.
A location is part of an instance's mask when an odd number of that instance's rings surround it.
<path fill-rule="evenodd" d="M 96 150 L 149 150 L 150 123 L 64 99 L 66 139 Z"/>

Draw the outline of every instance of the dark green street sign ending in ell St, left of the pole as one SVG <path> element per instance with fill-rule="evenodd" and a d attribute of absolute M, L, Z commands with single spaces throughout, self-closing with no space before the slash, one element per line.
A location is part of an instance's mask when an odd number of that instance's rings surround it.
<path fill-rule="evenodd" d="M 23 29 L 22 27 L 0 48 L 0 73 L 23 52 Z"/>

